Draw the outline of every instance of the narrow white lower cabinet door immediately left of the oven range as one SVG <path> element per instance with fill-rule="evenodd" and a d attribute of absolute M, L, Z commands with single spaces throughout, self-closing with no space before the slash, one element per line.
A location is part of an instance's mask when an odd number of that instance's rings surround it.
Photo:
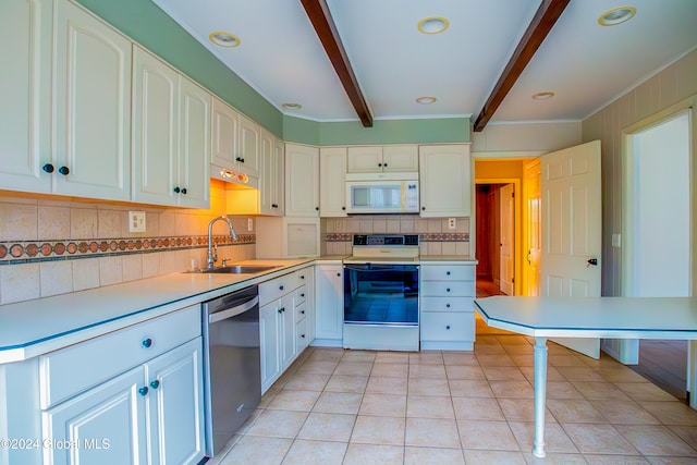
<path fill-rule="evenodd" d="M 315 267 L 315 338 L 339 341 L 343 336 L 343 269 L 341 265 Z"/>

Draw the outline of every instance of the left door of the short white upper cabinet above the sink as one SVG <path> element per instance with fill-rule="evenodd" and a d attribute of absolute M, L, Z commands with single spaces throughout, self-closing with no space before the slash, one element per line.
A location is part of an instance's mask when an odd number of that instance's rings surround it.
<path fill-rule="evenodd" d="M 211 162 L 229 170 L 237 169 L 240 113 L 213 97 Z"/>

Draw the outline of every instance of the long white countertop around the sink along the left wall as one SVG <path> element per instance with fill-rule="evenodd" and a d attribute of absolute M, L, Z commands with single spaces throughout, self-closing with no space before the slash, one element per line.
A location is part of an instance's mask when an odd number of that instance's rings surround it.
<path fill-rule="evenodd" d="M 23 360 L 284 274 L 315 258 L 247 260 L 256 274 L 172 273 L 0 306 L 0 363 Z M 237 264 L 235 264 L 237 265 Z"/>

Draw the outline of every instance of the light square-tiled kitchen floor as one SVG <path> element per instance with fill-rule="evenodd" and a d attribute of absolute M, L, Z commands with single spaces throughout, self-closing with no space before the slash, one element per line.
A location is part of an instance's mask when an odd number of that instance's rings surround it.
<path fill-rule="evenodd" d="M 697 464 L 697 412 L 627 367 L 549 344 L 546 441 L 533 449 L 533 346 L 308 347 L 209 464 Z"/>

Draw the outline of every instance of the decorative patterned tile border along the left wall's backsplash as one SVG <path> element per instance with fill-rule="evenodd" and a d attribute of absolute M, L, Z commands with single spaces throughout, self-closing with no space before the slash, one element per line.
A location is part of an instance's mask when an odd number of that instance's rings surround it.
<path fill-rule="evenodd" d="M 217 245 L 255 244 L 255 234 L 213 236 Z M 108 255 L 144 254 L 208 247 L 208 235 L 175 237 L 124 237 L 69 241 L 0 242 L 0 265 L 72 260 Z"/>

